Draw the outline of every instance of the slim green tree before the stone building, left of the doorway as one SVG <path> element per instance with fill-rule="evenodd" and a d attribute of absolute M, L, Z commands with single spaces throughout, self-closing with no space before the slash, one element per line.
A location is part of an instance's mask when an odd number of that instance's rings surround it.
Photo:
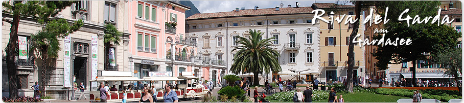
<path fill-rule="evenodd" d="M 56 61 L 51 59 L 57 58 L 58 52 L 61 50 L 58 38 L 64 38 L 70 33 L 79 30 L 79 28 L 83 25 L 83 22 L 82 20 L 78 20 L 71 25 L 66 21 L 66 19 L 58 19 L 49 21 L 43 25 L 44 27 L 41 31 L 31 36 L 31 41 L 33 43 L 31 48 L 33 50 L 31 51 L 36 50 L 36 54 L 39 55 L 38 57 L 42 60 L 42 86 L 40 91 L 45 90 L 45 77 L 47 77 L 45 74 L 47 73 L 48 68 L 56 64 Z M 44 93 L 45 92 L 42 92 L 42 95 L 44 95 Z"/>

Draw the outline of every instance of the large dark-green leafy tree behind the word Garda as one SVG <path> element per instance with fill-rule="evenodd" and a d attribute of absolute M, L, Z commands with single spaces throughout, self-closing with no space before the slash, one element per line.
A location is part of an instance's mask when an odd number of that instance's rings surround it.
<path fill-rule="evenodd" d="M 448 25 L 438 24 L 412 24 L 408 26 L 404 21 L 398 21 L 399 15 L 403 13 L 405 9 L 410 9 L 408 13 L 404 15 L 420 15 L 421 17 L 435 16 L 437 15 L 439 1 L 383 1 L 381 5 L 377 5 L 376 8 L 380 11 L 380 15 L 385 15 L 386 7 L 391 9 L 388 10 L 388 23 L 384 24 L 384 28 L 388 32 L 384 33 L 385 39 L 411 39 L 410 45 L 394 46 L 385 45 L 377 46 L 378 49 L 373 56 L 379 60 L 376 62 L 376 66 L 379 70 L 386 70 L 388 64 L 399 64 L 401 62 L 412 62 L 412 84 L 416 85 L 415 81 L 415 66 L 416 60 L 429 60 L 429 55 L 423 53 L 435 54 L 439 51 L 454 48 L 457 45 L 457 39 L 460 37 L 460 33 L 453 30 Z M 381 39 L 381 34 L 376 34 L 373 39 Z"/>

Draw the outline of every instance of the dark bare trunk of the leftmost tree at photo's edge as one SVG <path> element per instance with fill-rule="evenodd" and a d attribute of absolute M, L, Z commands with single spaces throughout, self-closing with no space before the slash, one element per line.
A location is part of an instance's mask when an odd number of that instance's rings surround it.
<path fill-rule="evenodd" d="M 14 7 L 13 7 L 14 8 Z M 7 70 L 8 70 L 8 81 L 9 81 L 9 93 L 10 98 L 18 98 L 18 85 L 19 80 L 16 77 L 18 75 L 18 70 L 15 61 L 15 56 L 18 49 L 18 25 L 19 25 L 19 13 L 13 14 L 13 21 L 11 22 L 10 28 L 10 41 L 8 42 L 6 51 L 6 61 L 7 61 Z"/>

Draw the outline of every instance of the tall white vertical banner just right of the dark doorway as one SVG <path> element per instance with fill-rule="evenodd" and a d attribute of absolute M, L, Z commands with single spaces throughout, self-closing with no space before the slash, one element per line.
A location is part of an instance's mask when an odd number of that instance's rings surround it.
<path fill-rule="evenodd" d="M 98 37 L 92 36 L 92 78 L 97 78 L 97 70 L 98 70 Z M 92 87 L 97 87 L 97 82 L 92 82 Z"/>

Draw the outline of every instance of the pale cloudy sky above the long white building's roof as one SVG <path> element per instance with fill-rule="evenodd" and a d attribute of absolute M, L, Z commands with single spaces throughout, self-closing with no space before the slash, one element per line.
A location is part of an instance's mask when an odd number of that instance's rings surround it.
<path fill-rule="evenodd" d="M 254 6 L 258 8 L 275 8 L 281 3 L 284 4 L 284 8 L 288 5 L 295 7 L 296 2 L 300 4 L 300 7 L 311 7 L 313 3 L 336 3 L 337 1 L 191 1 L 195 7 L 197 7 L 200 13 L 215 13 L 215 12 L 229 12 L 235 10 L 235 8 L 253 9 Z M 347 4 L 351 5 L 351 3 Z"/>

